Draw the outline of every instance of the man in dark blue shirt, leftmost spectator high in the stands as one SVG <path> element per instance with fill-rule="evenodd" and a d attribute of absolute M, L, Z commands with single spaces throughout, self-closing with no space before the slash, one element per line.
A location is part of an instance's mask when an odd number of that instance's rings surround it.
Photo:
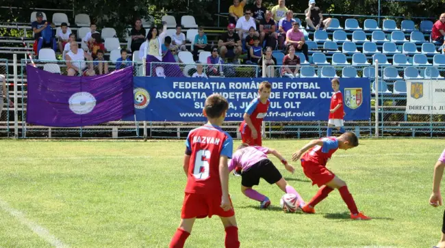
<path fill-rule="evenodd" d="M 33 46 L 36 55 L 38 55 L 38 51 L 40 51 L 42 47 L 47 46 L 48 44 L 54 51 L 56 51 L 57 44 L 53 36 L 54 28 L 55 25 L 53 23 L 48 23 L 47 20 L 43 20 L 42 12 L 36 13 L 36 20 L 31 23 L 34 39 L 36 39 Z"/>

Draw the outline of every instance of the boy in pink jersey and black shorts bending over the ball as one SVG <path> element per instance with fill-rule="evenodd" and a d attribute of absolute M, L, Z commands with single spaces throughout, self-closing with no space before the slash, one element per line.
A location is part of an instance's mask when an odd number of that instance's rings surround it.
<path fill-rule="evenodd" d="M 260 208 L 267 208 L 270 205 L 270 200 L 266 195 L 258 193 L 252 187 L 259 184 L 259 178 L 263 178 L 269 184 L 277 184 L 277 186 L 285 193 L 291 193 L 298 198 L 298 205 L 303 206 L 305 204 L 303 198 L 296 192 L 296 190 L 284 180 L 280 171 L 267 157 L 267 154 L 273 154 L 281 163 L 283 163 L 285 169 L 294 173 L 294 167 L 288 164 L 277 150 L 264 148 L 261 146 L 249 146 L 246 143 L 242 143 L 238 147 L 238 150 L 233 154 L 229 163 L 229 171 L 232 171 L 236 167 L 241 168 L 241 191 L 246 197 L 255 199 L 260 202 Z"/>

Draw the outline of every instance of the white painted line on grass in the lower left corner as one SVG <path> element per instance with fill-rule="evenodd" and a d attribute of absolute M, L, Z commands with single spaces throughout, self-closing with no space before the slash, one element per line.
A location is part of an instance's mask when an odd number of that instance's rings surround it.
<path fill-rule="evenodd" d="M 32 232 L 40 236 L 40 238 L 46 240 L 49 244 L 55 247 L 68 247 L 68 245 L 64 245 L 62 241 L 60 241 L 58 238 L 50 234 L 46 228 L 42 227 L 41 225 L 38 225 L 34 221 L 27 219 L 23 214 L 23 212 L 11 208 L 8 205 L 8 203 L 3 202 L 2 199 L 0 199 L 0 208 L 3 209 L 5 212 L 8 212 L 8 214 L 12 215 L 16 219 L 18 219 L 18 221 L 20 221 L 22 225 L 26 225 L 29 229 L 32 230 Z"/>

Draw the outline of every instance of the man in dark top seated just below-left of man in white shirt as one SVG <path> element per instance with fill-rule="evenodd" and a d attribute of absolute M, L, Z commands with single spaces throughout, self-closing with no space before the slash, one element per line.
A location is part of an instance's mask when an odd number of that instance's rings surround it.
<path fill-rule="evenodd" d="M 233 57 L 236 61 L 242 52 L 240 36 L 234 32 L 235 25 L 233 23 L 230 23 L 227 29 L 227 33 L 223 33 L 220 40 L 218 40 L 218 48 L 223 59 L 225 57 Z"/>

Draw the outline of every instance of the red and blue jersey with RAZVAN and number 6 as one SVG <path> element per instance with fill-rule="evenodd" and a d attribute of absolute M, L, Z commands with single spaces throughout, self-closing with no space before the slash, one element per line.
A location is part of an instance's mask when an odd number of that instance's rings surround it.
<path fill-rule="evenodd" d="M 205 124 L 188 133 L 186 154 L 190 155 L 186 193 L 221 195 L 220 156 L 231 159 L 233 140 L 219 126 Z"/>

